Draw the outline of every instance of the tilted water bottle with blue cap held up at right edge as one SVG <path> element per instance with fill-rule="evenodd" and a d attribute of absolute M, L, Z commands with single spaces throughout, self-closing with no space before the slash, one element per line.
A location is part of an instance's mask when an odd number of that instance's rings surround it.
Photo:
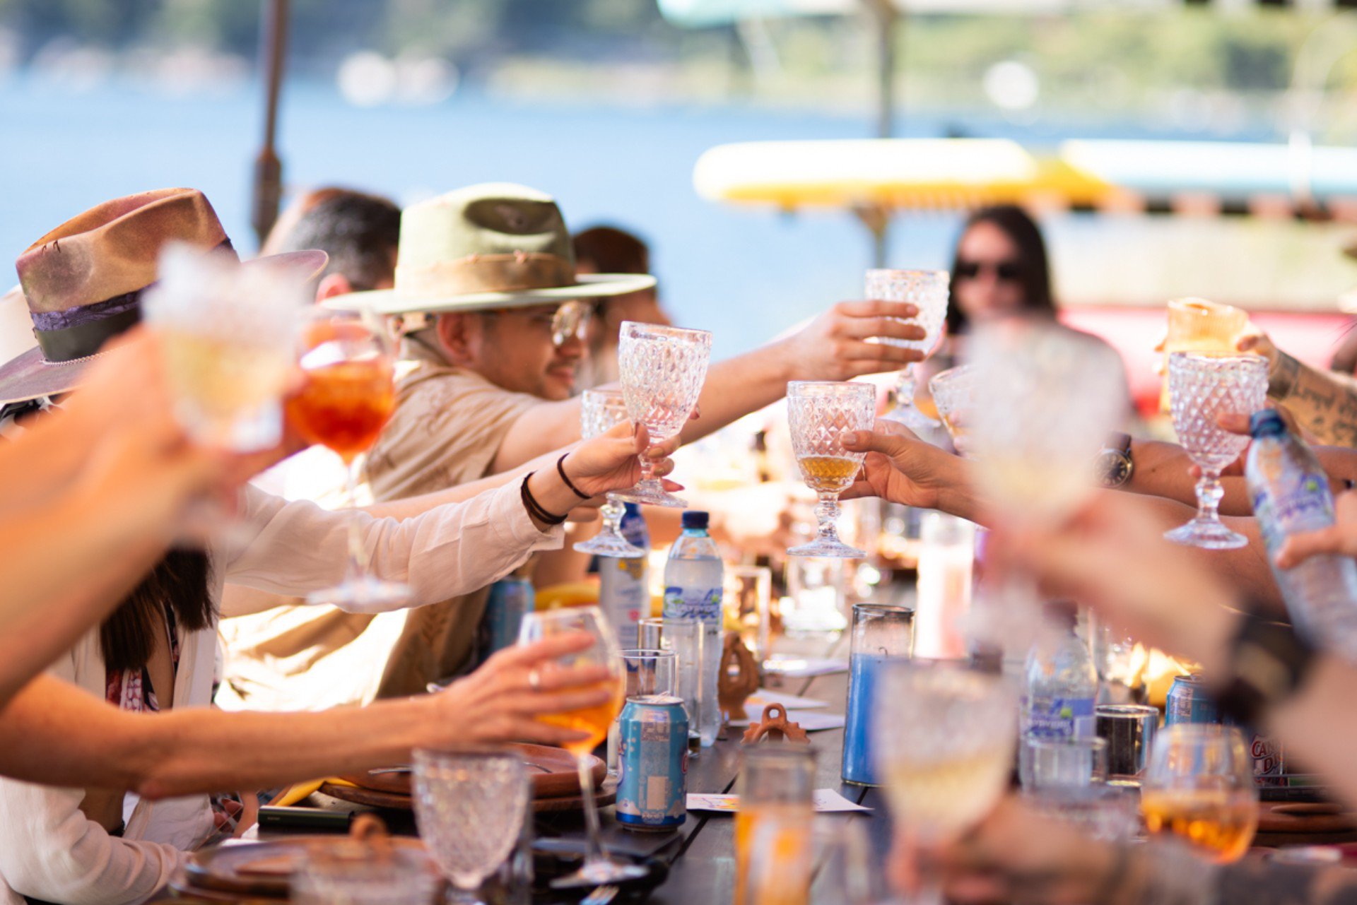
<path fill-rule="evenodd" d="M 1357 657 L 1357 563 L 1346 556 L 1312 556 L 1277 569 L 1286 537 L 1334 524 L 1329 476 L 1299 437 L 1272 408 L 1254 412 L 1248 430 L 1248 495 L 1267 547 L 1267 560 L 1292 621 L 1315 644 Z"/>

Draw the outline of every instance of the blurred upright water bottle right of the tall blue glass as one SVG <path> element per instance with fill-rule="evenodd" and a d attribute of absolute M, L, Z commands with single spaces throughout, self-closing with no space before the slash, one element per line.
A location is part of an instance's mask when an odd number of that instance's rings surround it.
<path fill-rule="evenodd" d="M 1088 647 L 1075 634 L 1075 615 L 1048 606 L 1053 631 L 1027 654 L 1023 730 L 1037 738 L 1088 738 L 1094 734 L 1098 670 Z"/>

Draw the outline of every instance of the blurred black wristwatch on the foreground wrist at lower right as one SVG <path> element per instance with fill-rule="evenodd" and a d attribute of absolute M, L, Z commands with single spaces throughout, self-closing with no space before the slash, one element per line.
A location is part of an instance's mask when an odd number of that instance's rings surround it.
<path fill-rule="evenodd" d="M 1263 711 L 1291 697 L 1315 661 L 1315 649 L 1291 625 L 1244 613 L 1229 647 L 1229 676 L 1216 696 L 1223 714 L 1257 726 Z"/>

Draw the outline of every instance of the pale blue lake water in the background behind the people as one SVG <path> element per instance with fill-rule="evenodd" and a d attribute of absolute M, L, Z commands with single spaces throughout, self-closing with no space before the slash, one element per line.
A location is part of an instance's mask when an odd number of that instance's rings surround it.
<path fill-rule="evenodd" d="M 34 239 L 94 204 L 166 186 L 202 189 L 235 244 L 255 247 L 250 178 L 262 130 L 258 94 L 170 96 L 119 84 L 72 92 L 0 81 L 0 284 Z M 927 122 L 917 130 L 935 132 Z M 605 107 L 457 95 L 433 107 L 357 109 L 327 85 L 289 84 L 280 151 L 289 186 L 341 183 L 402 204 L 482 180 L 558 197 L 573 228 L 600 220 L 654 247 L 665 304 L 715 331 L 730 355 L 856 297 L 870 251 L 848 216 L 782 217 L 702 201 L 692 167 L 730 141 L 860 138 L 859 113 L 753 107 Z M 944 263 L 953 216 L 902 220 L 897 266 Z"/>

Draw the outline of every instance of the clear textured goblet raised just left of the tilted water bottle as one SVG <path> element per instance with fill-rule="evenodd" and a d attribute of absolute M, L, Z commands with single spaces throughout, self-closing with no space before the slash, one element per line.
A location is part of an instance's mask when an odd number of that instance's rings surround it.
<path fill-rule="evenodd" d="M 1261 355 L 1168 355 L 1168 396 L 1174 430 L 1189 459 L 1201 468 L 1197 517 L 1167 532 L 1178 544 L 1235 550 L 1248 544 L 1220 521 L 1220 472 L 1248 446 L 1248 437 L 1216 423 L 1221 412 L 1251 415 L 1267 400 L 1267 360 Z"/>

